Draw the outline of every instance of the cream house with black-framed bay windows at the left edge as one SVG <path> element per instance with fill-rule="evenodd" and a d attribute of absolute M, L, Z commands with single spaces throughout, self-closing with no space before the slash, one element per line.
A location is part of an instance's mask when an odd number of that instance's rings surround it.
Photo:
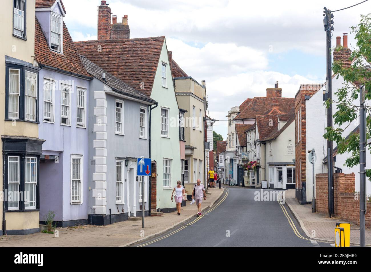
<path fill-rule="evenodd" d="M 3 156 L 0 183 L 0 234 L 39 232 L 38 139 L 39 68 L 35 56 L 35 0 L 3 1 L 0 58 L 0 132 Z M 3 172 L 3 169 L 5 170 Z M 21 192 L 19 194 L 19 192 Z M 9 193 L 9 196 L 8 196 Z"/>

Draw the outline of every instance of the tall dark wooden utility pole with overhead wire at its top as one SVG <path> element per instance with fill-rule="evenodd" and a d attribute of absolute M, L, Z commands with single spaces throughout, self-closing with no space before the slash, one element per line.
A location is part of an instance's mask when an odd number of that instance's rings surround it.
<path fill-rule="evenodd" d="M 324 92 L 324 100 L 331 100 L 327 109 L 327 127 L 332 127 L 332 58 L 331 58 L 331 31 L 334 30 L 334 15 L 331 10 L 324 7 L 324 27 L 326 31 L 326 56 L 327 56 L 327 75 L 326 87 Z M 334 147 L 331 140 L 327 140 L 327 166 L 328 166 L 328 213 L 329 217 L 335 215 L 334 211 Z"/>

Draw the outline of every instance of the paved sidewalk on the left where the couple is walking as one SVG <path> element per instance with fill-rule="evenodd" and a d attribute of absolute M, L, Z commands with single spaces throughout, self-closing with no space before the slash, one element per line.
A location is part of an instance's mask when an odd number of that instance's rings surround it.
<path fill-rule="evenodd" d="M 214 205 L 224 189 L 209 188 L 206 201 L 202 203 L 202 210 Z M 162 216 L 145 218 L 144 237 L 142 221 L 123 221 L 107 226 L 78 226 L 72 228 L 57 228 L 59 237 L 54 234 L 35 233 L 30 235 L 3 235 L 0 236 L 0 246 L 129 246 L 147 239 L 154 238 L 164 232 L 176 228 L 178 225 L 196 215 L 197 206 L 182 207 L 181 214 L 171 212 Z"/>

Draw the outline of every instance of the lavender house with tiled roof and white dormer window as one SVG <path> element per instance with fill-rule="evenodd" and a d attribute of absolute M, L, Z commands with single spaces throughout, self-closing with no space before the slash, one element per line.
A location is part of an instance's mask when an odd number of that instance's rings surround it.
<path fill-rule="evenodd" d="M 35 59 L 39 72 L 40 223 L 49 210 L 58 226 L 88 222 L 89 83 L 63 23 L 60 0 L 40 7 L 36 1 Z M 40 1 L 42 2 L 42 1 Z M 51 5 L 51 6 L 50 6 Z"/>

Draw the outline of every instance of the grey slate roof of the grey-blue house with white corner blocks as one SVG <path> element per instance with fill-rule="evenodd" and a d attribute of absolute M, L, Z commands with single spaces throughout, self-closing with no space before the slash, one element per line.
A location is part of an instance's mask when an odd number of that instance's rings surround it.
<path fill-rule="evenodd" d="M 119 94 L 127 95 L 129 97 L 133 97 L 139 100 L 147 101 L 149 103 L 155 104 L 156 101 L 148 98 L 147 95 L 142 94 L 141 92 L 135 90 L 134 88 L 130 87 L 128 84 L 119 80 L 115 76 L 107 73 L 101 67 L 97 66 L 96 64 L 92 63 L 86 57 L 81 56 L 81 61 L 84 64 L 86 71 L 91 74 L 93 77 L 98 78 L 100 81 L 104 82 L 106 85 L 112 88 L 113 91 Z M 102 74 L 106 73 L 105 80 L 102 78 Z"/>

